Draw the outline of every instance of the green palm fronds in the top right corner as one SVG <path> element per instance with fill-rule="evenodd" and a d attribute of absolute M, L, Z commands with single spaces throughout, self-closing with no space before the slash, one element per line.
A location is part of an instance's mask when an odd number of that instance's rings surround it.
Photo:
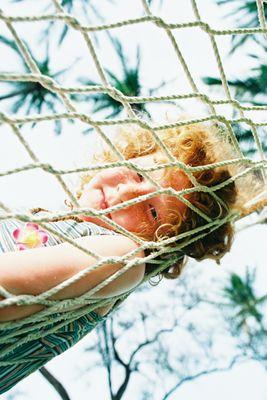
<path fill-rule="evenodd" d="M 232 10 L 226 16 L 233 16 L 238 28 L 254 28 L 259 26 L 259 17 L 256 0 L 216 0 L 218 5 L 230 5 Z M 267 6 L 263 3 L 264 15 L 267 19 Z M 230 53 L 243 45 L 248 39 L 252 39 L 259 44 L 264 45 L 266 41 L 256 35 L 233 35 L 232 49 Z"/>

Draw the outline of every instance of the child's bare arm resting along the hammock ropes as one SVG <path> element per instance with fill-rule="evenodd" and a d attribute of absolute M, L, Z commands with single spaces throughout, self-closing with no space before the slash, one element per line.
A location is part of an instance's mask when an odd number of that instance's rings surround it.
<path fill-rule="evenodd" d="M 101 256 L 123 256 L 138 245 L 122 235 L 87 236 L 74 240 Z M 139 251 L 135 257 L 143 257 Z M 0 285 L 10 293 L 37 295 L 57 286 L 79 271 L 93 265 L 95 258 L 72 246 L 61 243 L 51 247 L 8 252 L 0 255 Z M 122 264 L 104 264 L 86 277 L 62 289 L 51 299 L 78 297 L 122 268 Z M 135 287 L 143 279 L 145 264 L 130 268 L 93 297 L 110 297 Z M 22 318 L 40 311 L 42 305 L 9 306 L 0 309 L 0 321 Z"/>

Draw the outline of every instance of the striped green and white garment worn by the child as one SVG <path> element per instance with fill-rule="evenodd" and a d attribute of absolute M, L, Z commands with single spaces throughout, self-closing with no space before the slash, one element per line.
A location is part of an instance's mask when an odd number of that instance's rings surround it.
<path fill-rule="evenodd" d="M 0 221 L 0 254 L 1 252 L 16 250 L 12 232 L 22 225 L 22 222 L 14 219 Z M 116 234 L 90 222 L 67 220 L 51 222 L 47 225 L 72 239 L 80 236 Z M 49 239 L 45 246 L 53 246 L 62 242 L 61 239 L 51 233 L 48 233 L 48 236 Z M 68 322 L 66 321 L 66 314 L 68 313 L 50 314 L 38 322 L 11 329 L 1 329 L 0 323 L 0 394 L 11 389 L 52 358 L 72 347 L 93 330 L 97 324 L 107 318 L 107 315 L 101 316 L 90 311 L 75 321 Z M 42 326 L 42 321 L 47 322 L 48 318 L 49 324 Z M 59 326 L 56 333 L 46 334 L 55 326 Z M 22 339 L 23 341 L 29 334 L 32 335 L 30 341 L 22 343 L 12 350 L 12 347 L 15 347 L 19 340 Z M 35 338 L 33 339 L 34 335 Z"/>

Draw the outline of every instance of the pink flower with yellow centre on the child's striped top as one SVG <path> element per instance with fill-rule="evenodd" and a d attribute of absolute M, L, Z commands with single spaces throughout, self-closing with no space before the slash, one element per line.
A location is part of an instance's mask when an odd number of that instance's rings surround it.
<path fill-rule="evenodd" d="M 48 234 L 40 229 L 38 224 L 27 222 L 23 227 L 13 231 L 13 238 L 18 250 L 26 250 L 41 247 L 48 241 Z"/>

